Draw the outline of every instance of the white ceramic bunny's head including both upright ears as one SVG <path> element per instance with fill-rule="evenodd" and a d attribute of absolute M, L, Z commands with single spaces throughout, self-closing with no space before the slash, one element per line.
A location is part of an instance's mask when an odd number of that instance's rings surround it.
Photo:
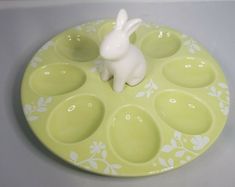
<path fill-rule="evenodd" d="M 114 30 L 101 43 L 100 55 L 107 60 L 122 58 L 128 52 L 130 35 L 139 27 L 141 22 L 141 19 L 128 21 L 127 12 L 121 9 L 116 18 Z"/>

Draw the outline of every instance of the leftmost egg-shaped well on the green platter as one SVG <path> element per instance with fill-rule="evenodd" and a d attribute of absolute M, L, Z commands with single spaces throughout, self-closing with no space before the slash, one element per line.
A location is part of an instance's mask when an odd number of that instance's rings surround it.
<path fill-rule="evenodd" d="M 85 73 L 70 64 L 50 64 L 37 69 L 30 77 L 32 89 L 39 95 L 61 95 L 80 88 Z"/>

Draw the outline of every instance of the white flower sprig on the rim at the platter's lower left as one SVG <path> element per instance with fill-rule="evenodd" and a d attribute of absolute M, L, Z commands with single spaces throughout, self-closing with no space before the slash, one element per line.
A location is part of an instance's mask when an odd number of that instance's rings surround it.
<path fill-rule="evenodd" d="M 76 166 L 83 166 L 88 170 L 97 170 L 99 167 L 98 162 L 103 163 L 105 165 L 103 170 L 104 174 L 116 175 L 117 170 L 121 168 L 120 164 L 108 162 L 106 145 L 103 142 L 94 141 L 92 145 L 90 145 L 90 153 L 90 157 L 85 160 L 79 160 L 79 154 L 75 151 L 71 151 L 69 156 L 70 160 Z"/>

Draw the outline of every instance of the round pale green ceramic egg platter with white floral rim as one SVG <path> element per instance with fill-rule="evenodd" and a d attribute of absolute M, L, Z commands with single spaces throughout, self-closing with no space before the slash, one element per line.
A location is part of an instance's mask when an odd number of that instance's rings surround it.
<path fill-rule="evenodd" d="M 147 75 L 122 93 L 98 74 L 99 44 L 115 23 L 66 30 L 32 58 L 21 87 L 29 126 L 55 155 L 111 176 L 162 173 L 190 162 L 221 133 L 228 86 L 218 63 L 195 40 L 144 23 L 130 38 Z"/>

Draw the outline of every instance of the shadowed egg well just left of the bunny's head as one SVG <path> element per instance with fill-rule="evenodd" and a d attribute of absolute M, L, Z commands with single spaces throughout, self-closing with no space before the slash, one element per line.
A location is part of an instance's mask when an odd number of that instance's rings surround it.
<path fill-rule="evenodd" d="M 99 47 L 95 41 L 76 31 L 62 34 L 56 41 L 56 51 L 78 62 L 91 61 L 99 55 Z"/>

